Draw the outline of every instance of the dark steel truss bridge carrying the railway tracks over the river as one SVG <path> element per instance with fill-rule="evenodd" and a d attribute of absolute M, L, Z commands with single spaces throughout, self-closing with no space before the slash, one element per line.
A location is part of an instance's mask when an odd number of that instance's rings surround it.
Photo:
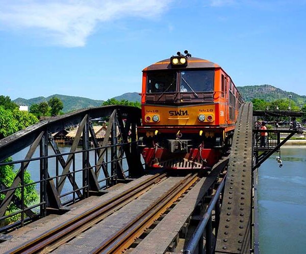
<path fill-rule="evenodd" d="M 242 105 L 231 151 L 205 172 L 146 171 L 134 107 L 83 109 L 3 138 L 0 167 L 16 176 L 0 179 L 0 253 L 259 253 L 257 169 L 297 132 L 281 141 L 284 131 L 268 130 L 259 147 L 253 116 L 263 113 Z M 102 143 L 96 118 L 108 122 Z M 76 125 L 61 153 L 52 133 Z M 33 168 L 37 179 L 25 183 Z M 29 187 L 39 201 L 26 204 Z"/>

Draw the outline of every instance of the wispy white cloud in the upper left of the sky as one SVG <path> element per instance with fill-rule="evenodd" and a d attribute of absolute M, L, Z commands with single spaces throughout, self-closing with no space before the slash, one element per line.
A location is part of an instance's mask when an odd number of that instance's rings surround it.
<path fill-rule="evenodd" d="M 172 0 L 17 0 L 0 2 L 2 29 L 29 29 L 65 47 L 82 47 L 98 24 L 124 17 L 151 18 Z"/>

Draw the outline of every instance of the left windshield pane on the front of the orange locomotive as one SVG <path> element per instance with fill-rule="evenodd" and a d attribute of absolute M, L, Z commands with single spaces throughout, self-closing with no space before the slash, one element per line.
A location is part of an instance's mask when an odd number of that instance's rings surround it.
<path fill-rule="evenodd" d="M 147 74 L 147 93 L 173 92 L 176 88 L 176 72 L 151 72 Z"/>

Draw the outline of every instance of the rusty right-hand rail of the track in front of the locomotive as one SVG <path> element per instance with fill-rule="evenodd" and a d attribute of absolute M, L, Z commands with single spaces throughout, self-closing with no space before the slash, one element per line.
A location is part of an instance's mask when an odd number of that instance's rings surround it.
<path fill-rule="evenodd" d="M 162 197 L 152 203 L 141 213 L 141 215 L 131 221 L 129 225 L 109 236 L 89 253 L 121 253 L 121 251 L 129 247 L 134 240 L 154 222 L 154 220 L 160 217 L 177 198 L 186 192 L 198 178 L 197 174 L 188 174 Z"/>

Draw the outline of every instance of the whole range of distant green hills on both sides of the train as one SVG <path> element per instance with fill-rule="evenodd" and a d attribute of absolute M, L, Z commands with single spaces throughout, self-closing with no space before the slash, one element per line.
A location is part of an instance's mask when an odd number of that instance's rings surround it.
<path fill-rule="evenodd" d="M 284 91 L 272 85 L 248 85 L 248 86 L 238 86 L 237 87 L 240 94 L 245 101 L 251 101 L 254 98 L 263 99 L 265 101 L 273 101 L 276 99 L 288 99 L 289 95 L 292 95 L 292 101 L 297 105 L 306 103 L 306 96 L 300 96 L 289 91 Z M 35 103 L 40 103 L 43 101 L 48 101 L 52 97 L 57 97 L 62 100 L 64 104 L 63 112 L 69 112 L 72 110 L 77 110 L 87 107 L 98 107 L 103 101 L 102 100 L 92 100 L 84 97 L 75 97 L 67 95 L 52 95 L 48 97 L 36 97 L 32 99 L 17 98 L 14 102 L 18 105 L 31 106 Z M 140 95 L 137 92 L 125 93 L 120 96 L 114 97 L 116 100 L 128 100 L 128 101 L 139 101 Z"/>

